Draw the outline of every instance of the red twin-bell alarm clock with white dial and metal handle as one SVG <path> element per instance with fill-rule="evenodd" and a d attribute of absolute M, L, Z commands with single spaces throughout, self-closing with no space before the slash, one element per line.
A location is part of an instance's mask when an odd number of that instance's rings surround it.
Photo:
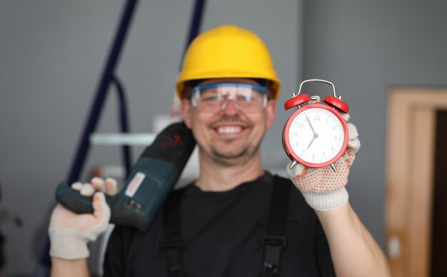
<path fill-rule="evenodd" d="M 323 99 L 325 104 L 311 103 L 316 96 L 301 94 L 303 84 L 308 82 L 322 82 L 332 86 L 333 96 Z M 306 104 L 306 105 L 304 105 Z M 348 127 L 340 112 L 348 113 L 348 105 L 336 96 L 335 86 L 329 81 L 309 79 L 300 85 L 298 94 L 292 94 L 284 104 L 284 109 L 298 109 L 286 121 L 283 129 L 283 147 L 287 156 L 296 163 L 304 166 L 319 168 L 331 166 L 337 170 L 335 163 L 340 158 L 348 144 Z"/>

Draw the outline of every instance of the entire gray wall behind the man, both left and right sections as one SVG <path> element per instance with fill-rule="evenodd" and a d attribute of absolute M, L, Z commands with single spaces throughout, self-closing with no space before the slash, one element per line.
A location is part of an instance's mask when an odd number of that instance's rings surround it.
<path fill-rule="evenodd" d="M 0 1 L 0 208 L 7 274 L 31 273 L 41 251 L 54 188 L 66 176 L 124 1 Z M 193 1 L 140 1 L 118 74 L 132 131 L 169 114 Z M 303 79 L 333 81 L 351 107 L 362 142 L 351 172 L 351 202 L 384 246 L 386 101 L 389 86 L 445 86 L 443 1 L 209 1 L 204 29 L 238 24 L 270 47 L 283 81 L 278 117 L 263 144 L 267 168 L 287 158 L 282 104 Z M 116 130 L 111 94 L 99 131 Z M 137 156 L 141 148 L 134 149 Z M 91 149 L 86 169 L 118 164 L 111 146 Z"/>

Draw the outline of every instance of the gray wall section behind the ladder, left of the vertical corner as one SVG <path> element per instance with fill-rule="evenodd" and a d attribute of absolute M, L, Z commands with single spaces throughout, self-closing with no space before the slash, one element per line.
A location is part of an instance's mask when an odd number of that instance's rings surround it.
<path fill-rule="evenodd" d="M 0 1 L 0 208 L 24 220 L 23 228 L 1 225 L 6 276 L 34 271 L 54 189 L 69 171 L 124 2 Z M 154 116 L 170 113 L 193 3 L 139 1 L 117 70 L 132 131 L 151 131 Z M 237 24 L 261 36 L 283 81 L 282 103 L 302 76 L 301 13 L 301 1 L 209 0 L 204 29 Z M 286 163 L 280 143 L 286 116 L 278 114 L 263 146 L 265 165 L 275 170 Z M 111 93 L 99 131 L 116 130 Z M 134 157 L 141 150 L 134 148 Z M 113 146 L 91 148 L 84 176 L 93 166 L 119 164 L 119 153 Z"/>

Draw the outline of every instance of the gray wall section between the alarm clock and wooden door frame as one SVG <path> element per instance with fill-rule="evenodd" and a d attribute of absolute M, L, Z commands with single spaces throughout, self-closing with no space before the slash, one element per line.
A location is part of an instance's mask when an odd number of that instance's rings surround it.
<path fill-rule="evenodd" d="M 384 246 L 387 99 L 391 86 L 447 86 L 447 2 L 304 2 L 303 76 L 336 83 L 362 143 L 351 203 Z"/>

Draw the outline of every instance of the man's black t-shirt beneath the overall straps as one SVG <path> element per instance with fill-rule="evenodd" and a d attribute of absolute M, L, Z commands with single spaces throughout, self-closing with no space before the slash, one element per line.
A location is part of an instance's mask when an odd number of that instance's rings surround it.
<path fill-rule="evenodd" d="M 201 191 L 194 184 L 181 188 L 186 277 L 261 276 L 261 238 L 266 231 L 272 188 L 270 173 L 231 191 Z M 287 245 L 278 276 L 335 276 L 321 224 L 295 187 L 291 188 L 287 218 Z M 109 238 L 104 276 L 167 276 L 163 240 L 163 211 L 146 232 L 116 226 Z"/>

